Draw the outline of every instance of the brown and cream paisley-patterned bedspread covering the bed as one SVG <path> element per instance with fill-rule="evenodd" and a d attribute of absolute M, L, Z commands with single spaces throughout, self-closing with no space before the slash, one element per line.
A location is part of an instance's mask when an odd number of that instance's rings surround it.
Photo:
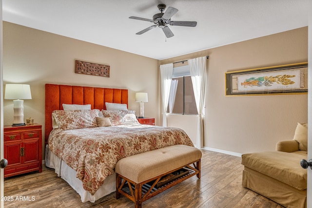
<path fill-rule="evenodd" d="M 48 144 L 55 155 L 77 171 L 83 188 L 92 194 L 123 157 L 177 144 L 194 146 L 181 129 L 139 124 L 54 129 Z"/>

